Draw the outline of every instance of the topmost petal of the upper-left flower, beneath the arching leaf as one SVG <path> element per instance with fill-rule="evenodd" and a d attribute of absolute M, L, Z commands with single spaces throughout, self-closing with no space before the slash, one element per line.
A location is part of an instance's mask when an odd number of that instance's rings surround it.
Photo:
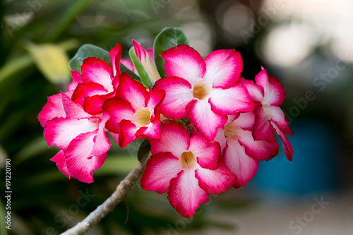
<path fill-rule="evenodd" d="M 104 89 L 112 92 L 112 68 L 107 61 L 88 57 L 83 60 L 81 66 L 82 78 L 85 83 L 93 82 L 103 85 Z"/>

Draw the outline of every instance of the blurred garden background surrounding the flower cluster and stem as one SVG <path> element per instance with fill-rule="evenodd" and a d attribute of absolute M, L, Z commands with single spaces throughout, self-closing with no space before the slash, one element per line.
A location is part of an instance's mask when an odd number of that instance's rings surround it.
<path fill-rule="evenodd" d="M 261 162 L 244 188 L 210 195 L 193 219 L 166 195 L 134 186 L 88 234 L 353 234 L 353 1 L 3 0 L 0 5 L 0 194 L 11 158 L 11 230 L 60 234 L 100 205 L 138 161 L 138 143 L 112 145 L 95 183 L 68 180 L 49 159 L 37 114 L 71 79 L 68 60 L 85 43 L 128 58 L 131 40 L 152 47 L 180 27 L 203 56 L 236 49 L 242 76 L 261 71 L 285 86 L 293 162 Z M 87 203 L 78 203 L 85 198 Z M 1 219 L 2 220 L 2 219 Z"/>

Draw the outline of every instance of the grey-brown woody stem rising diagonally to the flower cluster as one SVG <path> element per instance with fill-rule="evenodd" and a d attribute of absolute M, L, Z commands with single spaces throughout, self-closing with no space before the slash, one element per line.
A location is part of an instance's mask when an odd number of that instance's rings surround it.
<path fill-rule="evenodd" d="M 131 187 L 140 179 L 140 176 L 145 168 L 145 163 L 139 163 L 123 181 L 116 187 L 116 191 L 98 206 L 97 209 L 92 211 L 88 217 L 85 217 L 83 221 L 76 224 L 75 227 L 64 231 L 61 235 L 80 235 L 87 232 L 92 226 L 100 222 L 109 212 L 114 210 L 116 205 L 121 202 L 130 191 Z"/>

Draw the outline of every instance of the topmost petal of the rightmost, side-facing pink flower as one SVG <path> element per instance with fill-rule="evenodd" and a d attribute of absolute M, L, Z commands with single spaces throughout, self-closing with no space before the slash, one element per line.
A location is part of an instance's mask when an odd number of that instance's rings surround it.
<path fill-rule="evenodd" d="M 255 76 L 255 81 L 257 85 L 263 87 L 263 104 L 278 106 L 285 100 L 285 89 L 283 85 L 277 78 L 268 76 L 265 68 Z"/>

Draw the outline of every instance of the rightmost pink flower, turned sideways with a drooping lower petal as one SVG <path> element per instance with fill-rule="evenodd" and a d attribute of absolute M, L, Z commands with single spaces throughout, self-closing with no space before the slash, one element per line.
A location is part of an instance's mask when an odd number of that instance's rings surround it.
<path fill-rule="evenodd" d="M 246 85 L 251 99 L 256 102 L 254 109 L 256 123 L 253 128 L 253 138 L 274 143 L 274 131 L 282 140 L 287 159 L 292 161 L 292 145 L 286 134 L 293 135 L 293 132 L 289 128 L 289 121 L 279 107 L 285 99 L 285 89 L 277 78 L 269 76 L 264 68 L 256 75 L 255 81 L 256 84 L 241 78 L 241 83 Z"/>

